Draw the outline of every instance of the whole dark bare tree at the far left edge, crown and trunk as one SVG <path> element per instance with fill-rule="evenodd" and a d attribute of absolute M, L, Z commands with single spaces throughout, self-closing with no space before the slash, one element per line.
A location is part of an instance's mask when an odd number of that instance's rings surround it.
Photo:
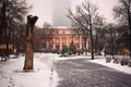
<path fill-rule="evenodd" d="M 7 55 L 14 26 L 24 21 L 28 9 L 25 0 L 0 0 L 0 36 L 5 39 Z"/>

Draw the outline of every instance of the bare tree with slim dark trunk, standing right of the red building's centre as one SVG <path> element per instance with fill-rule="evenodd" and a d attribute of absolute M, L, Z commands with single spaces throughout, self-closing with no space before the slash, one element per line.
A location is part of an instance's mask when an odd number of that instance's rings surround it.
<path fill-rule="evenodd" d="M 86 34 L 85 36 L 90 34 L 92 60 L 94 60 L 93 30 L 95 29 L 96 20 L 99 16 L 98 8 L 91 1 L 85 0 L 81 5 L 75 8 L 75 13 L 71 10 L 68 10 L 68 17 L 80 26 L 80 29 Z"/>

